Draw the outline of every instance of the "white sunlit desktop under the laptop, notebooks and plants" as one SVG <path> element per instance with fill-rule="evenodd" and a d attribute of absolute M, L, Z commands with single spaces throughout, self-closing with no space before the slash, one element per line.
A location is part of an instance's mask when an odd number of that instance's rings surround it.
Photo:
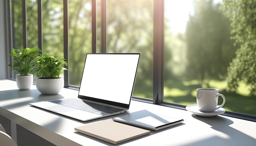
<path fill-rule="evenodd" d="M 30 90 L 20 91 L 15 81 L 0 80 L 0 115 L 55 145 L 112 145 L 79 134 L 74 131 L 74 127 L 120 115 L 81 122 L 29 106 L 31 102 L 76 98 L 77 95 L 78 91 L 67 88 L 63 88 L 58 95 L 42 95 L 35 85 Z M 156 114 L 184 119 L 184 123 L 161 131 L 151 131 L 150 135 L 132 139 L 119 145 L 256 146 L 256 122 L 223 115 L 211 118 L 199 117 L 185 110 L 131 101 L 130 112 L 143 109 Z"/>

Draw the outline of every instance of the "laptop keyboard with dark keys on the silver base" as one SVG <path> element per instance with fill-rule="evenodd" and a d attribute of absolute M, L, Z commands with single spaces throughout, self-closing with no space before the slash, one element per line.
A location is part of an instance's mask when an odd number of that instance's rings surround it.
<path fill-rule="evenodd" d="M 77 100 L 77 99 L 64 99 L 64 100 L 52 100 L 49 101 L 55 104 L 60 104 L 63 106 L 69 106 L 72 108 L 77 108 L 82 111 L 88 111 L 90 113 L 96 113 L 98 115 L 107 115 L 110 113 L 116 113 L 119 111 L 123 111 L 122 109 L 119 108 L 113 108 L 110 106 L 105 106 L 101 104 L 95 104 L 92 102 L 85 102 L 83 100 Z"/>

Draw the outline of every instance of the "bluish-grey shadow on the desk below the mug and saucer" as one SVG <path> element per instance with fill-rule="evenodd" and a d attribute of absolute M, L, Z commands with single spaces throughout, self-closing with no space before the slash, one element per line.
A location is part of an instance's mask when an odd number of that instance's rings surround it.
<path fill-rule="evenodd" d="M 246 135 L 235 128 L 232 128 L 231 124 L 234 122 L 230 119 L 225 117 L 199 117 L 198 115 L 193 114 L 192 117 L 198 119 L 206 124 L 209 124 L 212 129 L 219 131 L 223 134 L 223 137 L 210 137 L 208 139 L 204 139 L 199 142 L 195 142 L 192 144 L 188 144 L 189 146 L 199 146 L 199 145 L 207 145 L 211 146 L 211 144 L 216 145 L 218 142 L 220 145 L 226 145 L 225 143 L 228 142 L 229 145 L 232 146 L 255 146 L 256 139 Z M 252 127 L 253 128 L 253 127 Z M 232 144 L 230 143 L 232 142 Z"/>

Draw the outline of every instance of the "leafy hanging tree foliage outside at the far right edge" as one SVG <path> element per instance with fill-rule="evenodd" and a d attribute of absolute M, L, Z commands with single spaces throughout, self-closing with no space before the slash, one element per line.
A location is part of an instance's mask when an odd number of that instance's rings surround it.
<path fill-rule="evenodd" d="M 227 70 L 227 90 L 245 82 L 256 95 L 256 0 L 224 0 L 222 9 L 231 20 L 231 38 L 241 44 Z"/>

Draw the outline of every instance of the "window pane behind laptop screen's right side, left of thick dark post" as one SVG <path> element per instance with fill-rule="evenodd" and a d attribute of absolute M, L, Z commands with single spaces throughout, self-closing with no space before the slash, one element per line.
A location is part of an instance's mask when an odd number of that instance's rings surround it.
<path fill-rule="evenodd" d="M 141 58 L 133 96 L 153 98 L 153 0 L 107 1 L 107 52 Z"/>

